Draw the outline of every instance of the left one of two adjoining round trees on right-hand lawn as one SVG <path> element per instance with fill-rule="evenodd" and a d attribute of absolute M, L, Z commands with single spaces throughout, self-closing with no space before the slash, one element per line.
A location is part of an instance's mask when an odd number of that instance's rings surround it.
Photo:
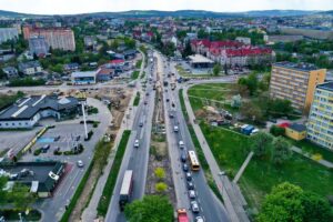
<path fill-rule="evenodd" d="M 250 138 L 251 149 L 259 158 L 268 155 L 272 148 L 273 137 L 266 132 L 258 132 Z"/>

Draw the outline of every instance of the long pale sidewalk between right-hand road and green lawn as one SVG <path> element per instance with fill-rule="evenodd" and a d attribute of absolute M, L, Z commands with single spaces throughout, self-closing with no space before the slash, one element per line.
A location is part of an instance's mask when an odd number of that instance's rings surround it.
<path fill-rule="evenodd" d="M 195 119 L 192 107 L 188 97 L 188 87 L 183 88 L 183 98 L 185 108 L 189 114 L 190 123 L 192 124 L 195 135 L 200 142 L 206 162 L 209 163 L 210 170 L 212 172 L 213 179 L 219 188 L 219 191 L 223 198 L 225 209 L 232 222 L 249 222 L 245 210 L 243 209 L 244 199 L 240 194 L 236 184 L 232 183 L 226 175 L 221 174 L 221 170 L 211 152 L 211 149 L 205 141 L 205 138 L 198 124 L 193 122 Z M 223 182 L 222 182 L 223 181 Z M 236 189 L 235 189 L 236 188 Z M 241 198 L 240 198 L 241 196 Z"/>

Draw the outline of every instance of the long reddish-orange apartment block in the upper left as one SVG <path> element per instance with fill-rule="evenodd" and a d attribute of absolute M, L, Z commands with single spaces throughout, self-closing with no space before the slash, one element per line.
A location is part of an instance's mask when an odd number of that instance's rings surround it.
<path fill-rule="evenodd" d="M 68 28 L 32 28 L 23 27 L 24 39 L 38 36 L 46 38 L 48 46 L 52 49 L 64 51 L 75 50 L 74 32 Z"/>

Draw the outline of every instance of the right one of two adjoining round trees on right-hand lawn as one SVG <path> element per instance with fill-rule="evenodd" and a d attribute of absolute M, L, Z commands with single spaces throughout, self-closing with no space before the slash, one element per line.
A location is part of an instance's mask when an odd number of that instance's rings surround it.
<path fill-rule="evenodd" d="M 275 138 L 273 143 L 272 161 L 275 164 L 282 164 L 291 157 L 291 144 L 282 137 Z"/>

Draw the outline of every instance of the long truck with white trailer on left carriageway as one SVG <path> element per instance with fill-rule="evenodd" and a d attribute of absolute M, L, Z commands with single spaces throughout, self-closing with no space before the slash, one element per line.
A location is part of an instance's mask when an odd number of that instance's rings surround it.
<path fill-rule="evenodd" d="M 120 196 L 119 196 L 119 206 L 121 211 L 123 211 L 125 204 L 130 202 L 132 190 L 133 190 L 133 171 L 127 170 L 122 180 Z"/>

